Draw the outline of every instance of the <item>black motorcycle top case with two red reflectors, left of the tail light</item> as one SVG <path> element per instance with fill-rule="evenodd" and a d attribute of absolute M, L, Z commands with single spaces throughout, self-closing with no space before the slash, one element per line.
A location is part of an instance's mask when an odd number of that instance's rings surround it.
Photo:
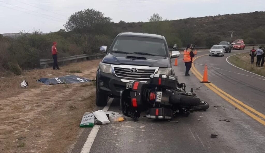
<path fill-rule="evenodd" d="M 134 108 L 141 107 L 143 105 L 143 96 L 142 92 L 146 89 L 149 85 L 144 82 L 135 81 L 132 85 L 132 90 L 130 92 L 131 97 L 131 105 Z"/>

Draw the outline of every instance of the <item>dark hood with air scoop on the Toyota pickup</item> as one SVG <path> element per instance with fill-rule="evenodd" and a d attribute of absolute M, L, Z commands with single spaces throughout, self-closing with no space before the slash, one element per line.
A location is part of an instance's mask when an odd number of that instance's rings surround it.
<path fill-rule="evenodd" d="M 115 65 L 124 64 L 124 65 L 142 65 L 150 67 L 170 68 L 170 58 L 162 56 L 108 53 L 103 58 L 102 62 L 108 64 L 115 64 Z"/>

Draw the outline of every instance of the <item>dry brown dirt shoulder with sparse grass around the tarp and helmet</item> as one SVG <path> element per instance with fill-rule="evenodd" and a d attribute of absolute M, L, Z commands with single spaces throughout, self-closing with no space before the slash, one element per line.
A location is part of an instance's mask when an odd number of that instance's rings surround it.
<path fill-rule="evenodd" d="M 95 82 L 45 85 L 41 77 L 75 74 L 95 79 L 100 60 L 78 62 L 61 70 L 35 69 L 0 78 L 0 152 L 69 152 L 82 128 L 83 113 L 95 106 Z M 82 71 L 82 73 L 70 73 Z M 29 88 L 20 87 L 27 80 Z"/>

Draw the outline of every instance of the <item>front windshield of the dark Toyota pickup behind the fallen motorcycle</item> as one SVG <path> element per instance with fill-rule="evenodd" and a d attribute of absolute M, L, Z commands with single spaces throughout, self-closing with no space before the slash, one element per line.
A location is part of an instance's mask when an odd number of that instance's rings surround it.
<path fill-rule="evenodd" d="M 166 56 L 165 41 L 163 39 L 119 36 L 111 52 L 127 52 L 141 55 Z"/>

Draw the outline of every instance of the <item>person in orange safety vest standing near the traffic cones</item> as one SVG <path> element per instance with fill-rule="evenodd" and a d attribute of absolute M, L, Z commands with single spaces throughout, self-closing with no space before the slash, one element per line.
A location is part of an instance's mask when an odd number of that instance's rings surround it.
<path fill-rule="evenodd" d="M 183 53 L 184 54 L 183 61 L 185 62 L 186 66 L 185 77 L 190 76 L 189 70 L 191 69 L 192 58 L 195 56 L 191 48 L 192 46 L 189 44 Z"/>

